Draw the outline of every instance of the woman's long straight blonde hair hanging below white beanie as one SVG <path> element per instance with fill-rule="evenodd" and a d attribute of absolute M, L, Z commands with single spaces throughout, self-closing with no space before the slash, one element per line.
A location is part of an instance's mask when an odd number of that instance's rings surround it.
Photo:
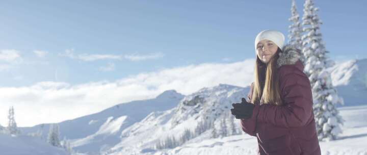
<path fill-rule="evenodd" d="M 280 88 L 277 70 L 277 61 L 281 49 L 278 47 L 274 57 L 265 64 L 256 55 L 254 69 L 254 86 L 251 102 L 253 104 L 274 104 L 281 105 Z M 263 94 L 264 93 L 264 94 Z M 263 95 L 263 98 L 261 98 Z"/>

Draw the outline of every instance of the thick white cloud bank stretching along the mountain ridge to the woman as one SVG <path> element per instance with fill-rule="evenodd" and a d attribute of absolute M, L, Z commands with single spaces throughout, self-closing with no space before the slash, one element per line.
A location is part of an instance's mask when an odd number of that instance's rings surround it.
<path fill-rule="evenodd" d="M 166 68 L 115 82 L 42 82 L 30 87 L 0 87 L 0 124 L 7 124 L 10 106 L 14 106 L 18 125 L 29 126 L 96 113 L 122 102 L 153 98 L 170 89 L 187 95 L 220 83 L 245 87 L 253 81 L 253 67 L 254 60 L 250 59 Z"/>

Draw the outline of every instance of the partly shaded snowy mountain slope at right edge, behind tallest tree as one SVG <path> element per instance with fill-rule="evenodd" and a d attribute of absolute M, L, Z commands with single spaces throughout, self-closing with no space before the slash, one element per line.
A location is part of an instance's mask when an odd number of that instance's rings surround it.
<path fill-rule="evenodd" d="M 367 59 L 339 63 L 328 70 L 331 72 L 333 86 L 344 98 L 345 106 L 367 103 Z"/>

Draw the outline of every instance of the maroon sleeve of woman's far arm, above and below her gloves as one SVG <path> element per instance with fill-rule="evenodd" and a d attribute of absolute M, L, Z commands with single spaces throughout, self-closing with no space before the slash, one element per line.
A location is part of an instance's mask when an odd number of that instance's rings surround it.
<path fill-rule="evenodd" d="M 251 101 L 251 96 L 252 96 L 252 89 L 253 89 L 253 83 L 251 83 L 250 86 L 250 91 L 248 92 L 247 95 L 247 100 Z M 257 109 L 258 110 L 258 109 Z M 252 117 L 249 119 L 241 119 L 241 128 L 242 131 L 244 131 L 245 133 L 251 135 L 251 136 L 256 136 L 256 115 L 258 112 L 253 112 L 252 113 Z"/>

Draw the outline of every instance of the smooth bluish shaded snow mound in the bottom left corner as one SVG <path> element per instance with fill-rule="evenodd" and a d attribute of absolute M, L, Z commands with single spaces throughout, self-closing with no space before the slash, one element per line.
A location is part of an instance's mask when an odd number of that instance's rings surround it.
<path fill-rule="evenodd" d="M 66 155 L 68 153 L 63 148 L 51 146 L 40 138 L 0 134 L 0 154 Z"/>

